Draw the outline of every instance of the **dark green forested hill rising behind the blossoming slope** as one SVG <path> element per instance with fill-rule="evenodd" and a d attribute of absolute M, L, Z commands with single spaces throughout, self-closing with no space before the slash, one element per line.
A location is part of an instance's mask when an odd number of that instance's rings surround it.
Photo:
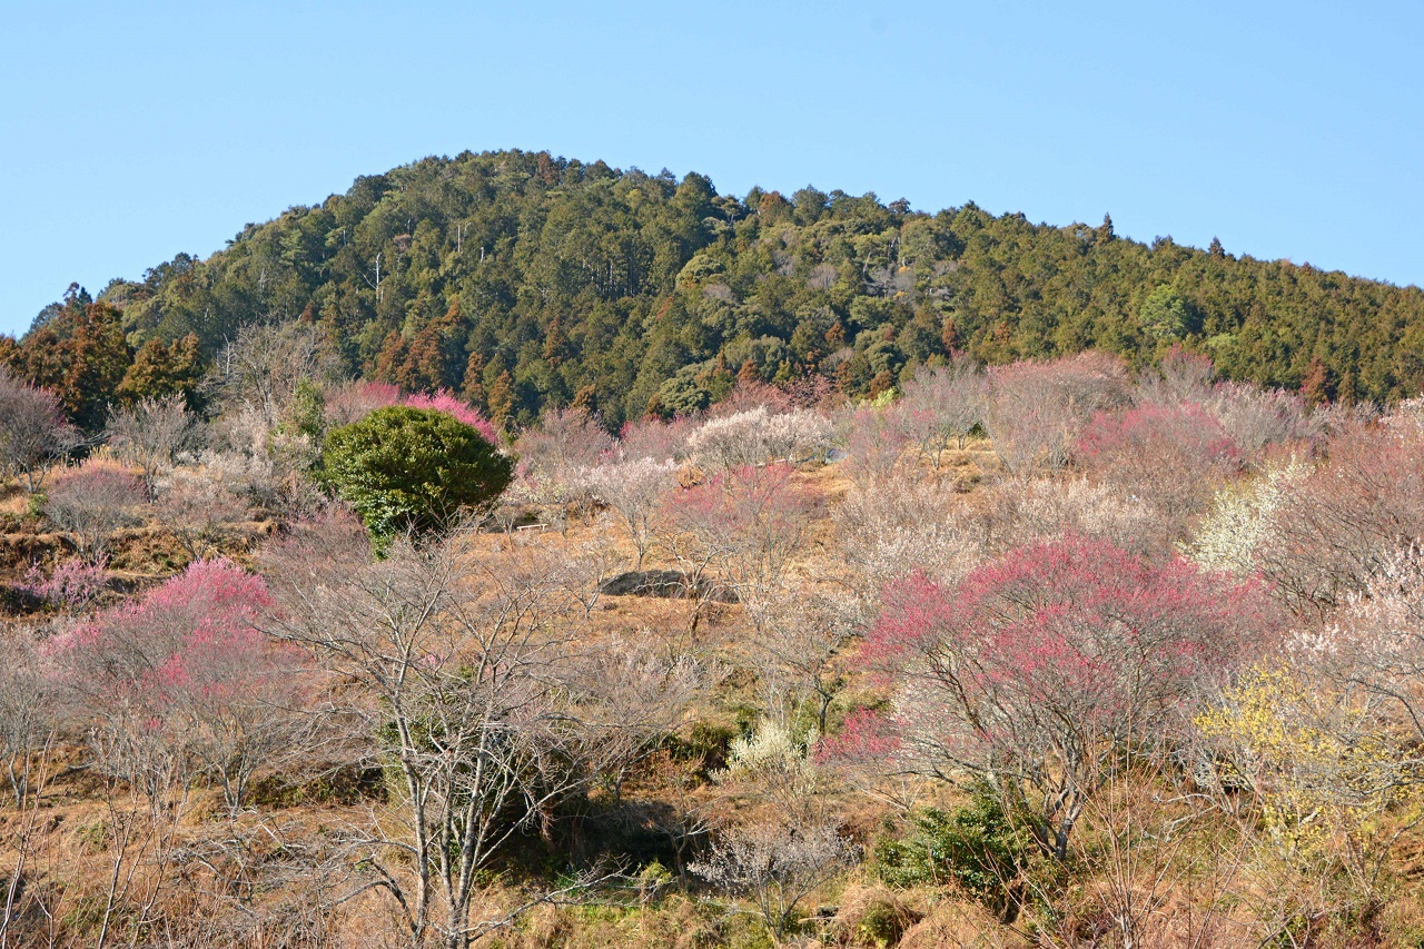
<path fill-rule="evenodd" d="M 0 358 L 60 388 L 182 388 L 263 319 L 312 321 L 352 372 L 449 386 L 515 422 L 571 402 L 612 423 L 691 410 L 739 373 L 874 395 L 950 349 L 998 363 L 1096 346 L 1141 365 L 1180 342 L 1313 399 L 1424 389 L 1418 288 L 1149 247 L 1108 221 L 813 188 L 736 198 L 698 174 L 520 151 L 359 178 L 205 261 L 179 255 L 93 304 L 71 294 Z"/>

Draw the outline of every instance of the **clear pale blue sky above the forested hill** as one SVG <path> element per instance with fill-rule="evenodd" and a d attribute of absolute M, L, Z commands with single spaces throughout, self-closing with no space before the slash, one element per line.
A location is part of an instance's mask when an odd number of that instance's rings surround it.
<path fill-rule="evenodd" d="M 0 331 L 467 148 L 1424 284 L 1424 3 L 0 0 Z"/>

